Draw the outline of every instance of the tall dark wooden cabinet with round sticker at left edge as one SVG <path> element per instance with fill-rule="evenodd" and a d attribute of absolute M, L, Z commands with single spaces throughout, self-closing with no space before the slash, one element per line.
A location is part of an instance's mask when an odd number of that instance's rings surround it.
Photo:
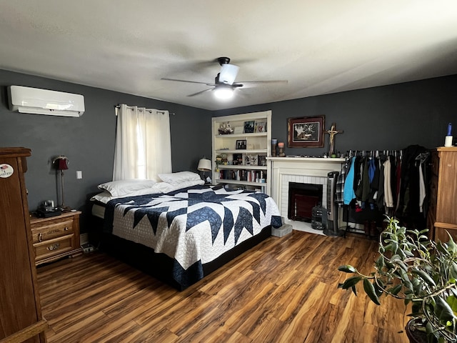
<path fill-rule="evenodd" d="M 24 180 L 27 156 L 30 149 L 0 148 L 1 342 L 46 342 Z"/>

